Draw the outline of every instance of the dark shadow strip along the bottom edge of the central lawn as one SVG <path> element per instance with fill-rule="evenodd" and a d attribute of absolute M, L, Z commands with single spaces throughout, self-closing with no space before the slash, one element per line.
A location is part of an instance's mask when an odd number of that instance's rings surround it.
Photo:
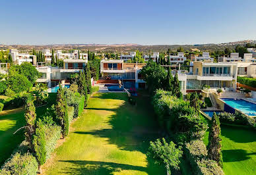
<path fill-rule="evenodd" d="M 133 166 L 130 164 L 120 164 L 115 162 L 102 161 L 61 161 L 75 164 L 75 168 L 67 167 L 62 173 L 69 174 L 113 174 L 113 172 L 121 172 L 121 170 L 138 170 L 146 172 L 146 168 L 142 166 Z"/>

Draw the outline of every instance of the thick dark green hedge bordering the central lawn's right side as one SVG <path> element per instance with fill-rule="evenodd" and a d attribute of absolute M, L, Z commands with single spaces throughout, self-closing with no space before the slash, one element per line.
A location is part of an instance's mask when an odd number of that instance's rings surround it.
<path fill-rule="evenodd" d="M 170 91 L 156 90 L 152 105 L 160 126 L 168 132 L 183 134 L 183 139 L 201 139 L 207 130 L 207 124 L 189 102 L 178 99 Z M 185 141 L 183 140 L 183 141 Z"/>

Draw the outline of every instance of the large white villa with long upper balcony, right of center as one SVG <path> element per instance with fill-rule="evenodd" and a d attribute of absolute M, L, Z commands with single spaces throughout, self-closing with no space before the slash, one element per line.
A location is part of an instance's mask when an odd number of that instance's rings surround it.
<path fill-rule="evenodd" d="M 224 88 L 228 91 L 234 91 L 238 64 L 194 61 L 191 62 L 189 72 L 185 70 L 178 70 L 177 72 L 183 94 L 202 90 L 204 85 L 208 85 L 212 89 Z"/>

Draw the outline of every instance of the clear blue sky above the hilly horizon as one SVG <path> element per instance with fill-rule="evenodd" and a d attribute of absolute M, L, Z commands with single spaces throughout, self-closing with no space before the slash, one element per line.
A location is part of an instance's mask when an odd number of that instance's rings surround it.
<path fill-rule="evenodd" d="M 0 43 L 222 43 L 256 39 L 255 0 L 2 0 Z"/>

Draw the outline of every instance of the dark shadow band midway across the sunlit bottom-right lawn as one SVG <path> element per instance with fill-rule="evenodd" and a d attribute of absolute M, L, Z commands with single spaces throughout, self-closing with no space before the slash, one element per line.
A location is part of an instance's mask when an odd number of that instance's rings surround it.
<path fill-rule="evenodd" d="M 238 161 L 245 161 L 247 159 L 251 159 L 250 156 L 256 155 L 256 153 L 247 153 L 247 151 L 243 149 L 230 149 L 230 150 L 223 150 L 223 161 L 224 162 L 238 162 Z"/>

